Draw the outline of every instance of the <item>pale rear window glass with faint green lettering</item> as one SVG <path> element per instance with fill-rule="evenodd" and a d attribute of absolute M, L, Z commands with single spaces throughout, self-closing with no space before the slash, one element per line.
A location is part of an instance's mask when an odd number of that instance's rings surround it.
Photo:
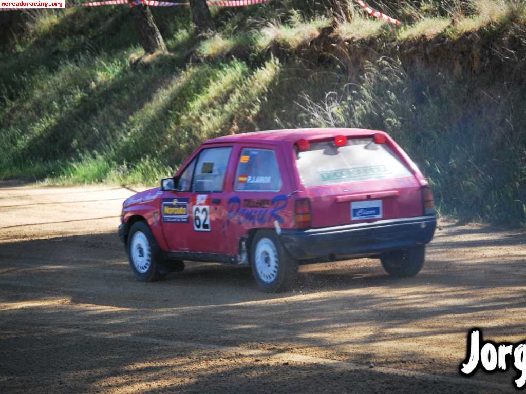
<path fill-rule="evenodd" d="M 386 144 L 372 138 L 349 139 L 343 147 L 334 141 L 311 142 L 310 149 L 297 153 L 296 165 L 307 187 L 412 176 Z"/>

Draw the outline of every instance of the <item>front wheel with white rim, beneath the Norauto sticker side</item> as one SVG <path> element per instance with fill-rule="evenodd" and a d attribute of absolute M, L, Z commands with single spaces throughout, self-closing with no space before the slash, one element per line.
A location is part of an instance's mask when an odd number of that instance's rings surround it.
<path fill-rule="evenodd" d="M 166 274 L 161 248 L 145 222 L 131 226 L 127 247 L 131 270 L 139 281 L 154 282 Z"/>

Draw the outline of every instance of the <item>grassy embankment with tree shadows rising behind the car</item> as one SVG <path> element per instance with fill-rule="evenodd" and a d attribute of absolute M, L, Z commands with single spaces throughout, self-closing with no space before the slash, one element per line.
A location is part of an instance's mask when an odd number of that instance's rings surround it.
<path fill-rule="evenodd" d="M 127 7 L 28 17 L 0 53 L 0 178 L 156 184 L 211 137 L 376 128 L 442 213 L 524 225 L 524 3 L 371 5 L 404 24 L 356 8 L 327 35 L 322 3 L 270 1 L 215 9 L 218 33 L 198 40 L 187 9 L 153 9 L 170 53 L 138 68 Z"/>

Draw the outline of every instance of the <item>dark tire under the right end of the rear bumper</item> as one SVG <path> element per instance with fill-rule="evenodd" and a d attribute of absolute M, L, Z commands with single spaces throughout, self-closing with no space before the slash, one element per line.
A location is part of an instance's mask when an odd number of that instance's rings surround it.
<path fill-rule="evenodd" d="M 391 276 L 415 276 L 426 260 L 426 246 L 412 247 L 406 251 L 385 253 L 380 257 L 383 269 Z"/>

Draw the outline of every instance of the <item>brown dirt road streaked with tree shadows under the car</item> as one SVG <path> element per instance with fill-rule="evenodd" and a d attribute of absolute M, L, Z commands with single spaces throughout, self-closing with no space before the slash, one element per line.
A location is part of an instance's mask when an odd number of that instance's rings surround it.
<path fill-rule="evenodd" d="M 444 222 L 416 278 L 363 259 L 278 295 L 216 264 L 140 283 L 131 194 L 0 183 L 0 392 L 514 392 L 512 370 L 458 367 L 471 327 L 526 339 L 524 233 Z"/>

